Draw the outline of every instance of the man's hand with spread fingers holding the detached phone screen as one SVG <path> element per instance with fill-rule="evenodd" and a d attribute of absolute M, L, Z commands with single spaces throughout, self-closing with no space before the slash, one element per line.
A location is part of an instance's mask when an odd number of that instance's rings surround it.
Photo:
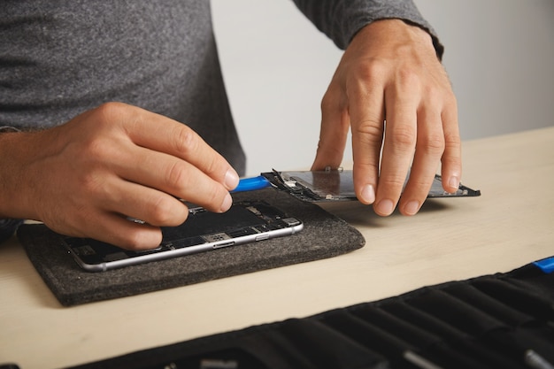
<path fill-rule="evenodd" d="M 458 188 L 456 98 L 431 36 L 419 27 L 387 19 L 360 30 L 338 65 L 321 111 L 312 169 L 341 164 L 350 127 L 356 194 L 378 214 L 389 215 L 396 204 L 404 215 L 419 211 L 440 162 L 442 187 Z"/>

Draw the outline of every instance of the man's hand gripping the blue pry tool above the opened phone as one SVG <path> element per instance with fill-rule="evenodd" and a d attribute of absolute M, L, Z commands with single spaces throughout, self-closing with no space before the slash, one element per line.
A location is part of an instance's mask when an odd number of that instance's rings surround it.
<path fill-rule="evenodd" d="M 126 104 L 2 140 L 4 158 L 12 151 L 10 164 L 0 163 L 0 216 L 41 220 L 61 234 L 126 249 L 157 247 L 159 227 L 185 221 L 179 199 L 227 211 L 238 183 L 227 160 L 189 127 Z"/>

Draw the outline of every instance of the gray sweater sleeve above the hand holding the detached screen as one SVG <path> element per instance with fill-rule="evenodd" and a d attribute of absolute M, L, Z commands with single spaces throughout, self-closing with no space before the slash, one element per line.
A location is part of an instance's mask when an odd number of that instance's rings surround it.
<path fill-rule="evenodd" d="M 425 29 L 432 37 L 438 58 L 444 48 L 435 30 L 419 13 L 412 0 L 293 0 L 298 9 L 312 20 L 342 50 L 364 26 L 378 19 L 403 19 Z"/>

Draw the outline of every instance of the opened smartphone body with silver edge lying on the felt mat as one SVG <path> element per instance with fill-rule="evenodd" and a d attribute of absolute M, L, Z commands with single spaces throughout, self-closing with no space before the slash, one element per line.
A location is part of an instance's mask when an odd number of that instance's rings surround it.
<path fill-rule="evenodd" d="M 295 234 L 303 227 L 299 219 L 288 217 L 270 204 L 254 201 L 233 204 L 224 213 L 191 208 L 181 226 L 162 227 L 163 240 L 153 250 L 123 250 L 88 238 L 66 237 L 64 242 L 83 269 L 101 272 Z"/>

